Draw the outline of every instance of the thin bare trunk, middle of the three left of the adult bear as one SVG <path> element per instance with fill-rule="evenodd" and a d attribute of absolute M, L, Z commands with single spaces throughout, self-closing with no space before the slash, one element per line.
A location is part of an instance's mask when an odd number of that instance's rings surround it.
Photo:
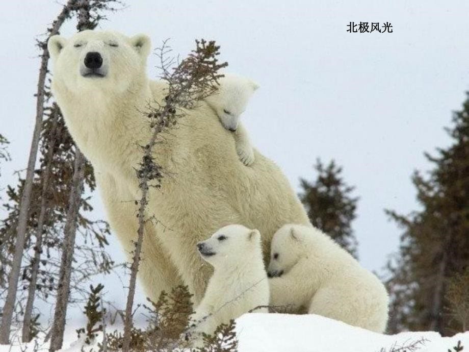
<path fill-rule="evenodd" d="M 58 108 L 56 108 L 58 109 Z M 34 308 L 34 298 L 36 297 L 36 285 L 37 285 L 37 274 L 39 271 L 39 264 L 41 261 L 41 250 L 42 250 L 42 238 L 43 238 L 43 228 L 44 228 L 44 218 L 47 211 L 47 192 L 49 190 L 49 181 L 50 181 L 50 170 L 51 170 L 51 160 L 54 154 L 54 145 L 57 140 L 57 124 L 58 116 L 57 111 L 54 111 L 53 115 L 53 126 L 51 129 L 49 145 L 47 149 L 47 156 L 45 158 L 46 167 L 42 173 L 42 192 L 41 192 L 41 208 L 38 218 L 38 225 L 36 230 L 36 244 L 35 244 L 35 253 L 32 260 L 31 268 L 31 280 L 28 288 L 28 300 L 26 302 L 26 307 L 24 308 L 24 318 L 23 318 L 23 329 L 21 334 L 21 339 L 23 342 L 31 341 L 31 318 L 33 316 Z"/>

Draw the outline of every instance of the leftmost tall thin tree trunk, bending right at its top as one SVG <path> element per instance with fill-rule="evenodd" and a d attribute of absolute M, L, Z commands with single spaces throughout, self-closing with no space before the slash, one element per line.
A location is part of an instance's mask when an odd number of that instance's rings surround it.
<path fill-rule="evenodd" d="M 70 0 L 67 5 L 64 6 L 59 16 L 53 22 L 52 27 L 48 30 L 49 36 L 53 36 L 59 33 L 59 29 L 63 22 L 69 17 L 70 8 L 75 1 L 76 0 Z M 47 42 L 43 42 L 41 46 L 42 56 L 37 84 L 36 124 L 34 127 L 33 139 L 31 141 L 26 179 L 24 181 L 24 188 L 21 194 L 21 202 L 19 206 L 18 224 L 16 227 L 15 253 L 13 255 L 12 267 L 8 278 L 8 293 L 5 299 L 5 306 L 3 308 L 2 324 L 0 325 L 0 344 L 8 344 L 10 341 L 11 321 L 13 319 L 13 312 L 16 303 L 16 293 L 21 270 L 21 260 L 23 258 L 24 242 L 28 225 L 28 215 L 31 205 L 34 170 L 37 159 L 39 138 L 41 136 L 42 118 L 44 116 L 44 85 L 47 75 L 49 52 L 47 51 Z"/>

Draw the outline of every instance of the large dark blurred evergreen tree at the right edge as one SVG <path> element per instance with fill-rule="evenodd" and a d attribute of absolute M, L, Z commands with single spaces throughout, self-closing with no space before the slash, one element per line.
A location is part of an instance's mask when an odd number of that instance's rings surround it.
<path fill-rule="evenodd" d="M 461 331 L 449 314 L 448 288 L 469 264 L 469 94 L 453 114 L 452 138 L 437 155 L 425 154 L 433 168 L 424 177 L 415 171 L 421 210 L 404 216 L 387 211 L 404 230 L 397 264 L 389 264 L 392 294 L 391 328 Z"/>

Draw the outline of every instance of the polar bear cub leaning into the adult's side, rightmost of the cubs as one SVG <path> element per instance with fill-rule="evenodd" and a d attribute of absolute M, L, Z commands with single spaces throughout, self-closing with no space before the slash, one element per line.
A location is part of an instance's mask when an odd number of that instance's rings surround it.
<path fill-rule="evenodd" d="M 293 305 L 378 333 L 386 328 L 384 285 L 314 227 L 287 224 L 274 234 L 268 274 L 273 306 Z"/>

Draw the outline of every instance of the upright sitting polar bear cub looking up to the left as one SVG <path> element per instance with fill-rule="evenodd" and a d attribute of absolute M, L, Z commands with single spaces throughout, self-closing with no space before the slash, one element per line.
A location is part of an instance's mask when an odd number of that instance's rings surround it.
<path fill-rule="evenodd" d="M 269 304 L 269 282 L 259 231 L 228 225 L 197 243 L 197 248 L 203 260 L 214 267 L 205 295 L 192 317 L 197 333 L 212 334 L 218 325 Z"/>

